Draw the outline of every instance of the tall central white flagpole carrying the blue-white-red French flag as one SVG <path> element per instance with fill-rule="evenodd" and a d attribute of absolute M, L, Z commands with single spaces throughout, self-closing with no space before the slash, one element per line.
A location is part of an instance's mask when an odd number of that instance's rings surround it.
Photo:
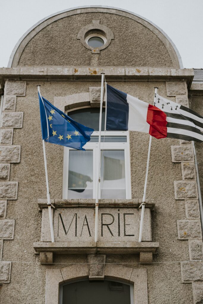
<path fill-rule="evenodd" d="M 100 187 L 100 145 L 101 145 L 101 121 L 102 121 L 102 105 L 103 105 L 103 78 L 104 73 L 102 74 L 101 80 L 101 98 L 100 98 L 100 122 L 99 122 L 99 144 L 98 144 L 98 164 L 97 164 L 97 176 L 96 176 L 96 202 L 95 202 L 95 237 L 94 241 L 97 242 L 98 239 L 98 206 L 99 206 L 99 187 Z"/>

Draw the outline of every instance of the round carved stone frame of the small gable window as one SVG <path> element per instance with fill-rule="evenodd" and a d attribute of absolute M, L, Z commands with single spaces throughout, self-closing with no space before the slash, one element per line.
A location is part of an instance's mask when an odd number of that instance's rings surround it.
<path fill-rule="evenodd" d="M 100 37 L 104 41 L 101 47 L 91 47 L 88 40 L 91 37 Z M 92 54 L 100 54 L 100 50 L 104 50 L 109 46 L 111 40 L 114 39 L 114 33 L 107 26 L 100 24 L 100 20 L 93 20 L 92 24 L 84 26 L 78 33 L 77 39 L 82 45 L 92 51 Z"/>

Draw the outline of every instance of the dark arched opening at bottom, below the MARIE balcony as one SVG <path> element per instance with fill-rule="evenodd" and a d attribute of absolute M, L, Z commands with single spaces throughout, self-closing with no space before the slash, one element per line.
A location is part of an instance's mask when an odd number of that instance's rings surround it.
<path fill-rule="evenodd" d="M 133 304 L 133 285 L 80 281 L 60 285 L 60 304 Z"/>

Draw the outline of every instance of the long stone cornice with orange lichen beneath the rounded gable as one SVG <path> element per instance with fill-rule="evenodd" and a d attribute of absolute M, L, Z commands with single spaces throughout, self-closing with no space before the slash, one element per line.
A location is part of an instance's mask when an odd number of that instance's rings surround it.
<path fill-rule="evenodd" d="M 108 79 L 116 80 L 142 80 L 142 81 L 173 81 L 183 79 L 190 86 L 193 77 L 193 69 L 174 69 L 174 68 L 154 68 L 154 67 L 86 67 L 86 66 L 44 66 L 44 67 L 14 67 L 14 68 L 0 68 L 0 81 L 4 83 L 6 79 L 86 79 L 86 80 L 98 80 L 101 81 L 101 72 L 104 72 Z M 7 90 L 7 94 L 11 94 L 10 90 Z M 12 91 L 13 92 L 13 91 Z"/>

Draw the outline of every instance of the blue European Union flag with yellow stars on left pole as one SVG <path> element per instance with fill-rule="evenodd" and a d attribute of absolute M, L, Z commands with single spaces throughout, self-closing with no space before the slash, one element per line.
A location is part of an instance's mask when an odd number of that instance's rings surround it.
<path fill-rule="evenodd" d="M 77 123 L 44 97 L 39 96 L 42 139 L 49 143 L 85 150 L 82 147 L 90 140 L 94 129 Z"/>

